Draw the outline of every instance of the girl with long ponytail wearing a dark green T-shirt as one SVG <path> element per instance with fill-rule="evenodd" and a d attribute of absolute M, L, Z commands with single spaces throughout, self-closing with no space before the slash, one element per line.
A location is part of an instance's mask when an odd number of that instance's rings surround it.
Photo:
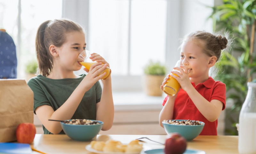
<path fill-rule="evenodd" d="M 97 76 L 108 62 L 100 55 L 91 54 L 98 63 L 87 75 L 76 75 L 82 65 L 78 55 L 85 50 L 83 28 L 68 19 L 48 20 L 42 23 L 36 35 L 36 56 L 40 75 L 30 79 L 28 86 L 34 92 L 34 113 L 43 124 L 44 134 L 64 134 L 60 122 L 48 119 L 92 119 L 103 121 L 102 130 L 112 127 L 114 104 L 111 77 L 99 80 Z M 101 65 L 101 64 L 105 65 Z"/>

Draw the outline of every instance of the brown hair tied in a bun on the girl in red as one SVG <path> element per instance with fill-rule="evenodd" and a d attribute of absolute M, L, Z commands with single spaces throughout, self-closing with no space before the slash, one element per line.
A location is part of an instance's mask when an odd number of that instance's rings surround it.
<path fill-rule="evenodd" d="M 183 41 L 192 41 L 196 45 L 203 48 L 203 51 L 208 56 L 216 56 L 217 61 L 220 59 L 221 50 L 227 48 L 228 39 L 221 35 L 213 35 L 205 31 L 196 31 L 190 33 Z"/>

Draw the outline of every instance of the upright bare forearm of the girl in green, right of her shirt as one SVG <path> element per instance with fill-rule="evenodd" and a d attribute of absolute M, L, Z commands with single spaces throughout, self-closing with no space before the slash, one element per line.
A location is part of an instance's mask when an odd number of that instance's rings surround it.
<path fill-rule="evenodd" d="M 111 76 L 104 81 L 100 102 L 97 103 L 97 120 L 103 121 L 101 130 L 109 130 L 114 120 L 114 103 L 112 96 Z"/>

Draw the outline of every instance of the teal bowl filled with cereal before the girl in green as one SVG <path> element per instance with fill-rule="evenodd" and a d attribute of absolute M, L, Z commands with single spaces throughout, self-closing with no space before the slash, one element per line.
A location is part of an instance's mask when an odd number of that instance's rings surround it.
<path fill-rule="evenodd" d="M 60 122 L 66 135 L 76 141 L 90 141 L 101 130 L 103 122 L 88 119 L 71 119 Z"/>

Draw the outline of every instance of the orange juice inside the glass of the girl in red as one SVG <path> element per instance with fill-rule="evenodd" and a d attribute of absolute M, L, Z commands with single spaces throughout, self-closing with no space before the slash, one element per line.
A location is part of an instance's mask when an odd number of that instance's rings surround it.
<path fill-rule="evenodd" d="M 173 74 L 173 75 L 176 75 L 176 74 Z M 170 79 L 167 80 L 167 82 L 164 85 L 164 93 L 169 96 L 175 96 L 178 90 L 180 89 L 180 83 L 173 77 L 171 76 L 169 77 Z"/>

